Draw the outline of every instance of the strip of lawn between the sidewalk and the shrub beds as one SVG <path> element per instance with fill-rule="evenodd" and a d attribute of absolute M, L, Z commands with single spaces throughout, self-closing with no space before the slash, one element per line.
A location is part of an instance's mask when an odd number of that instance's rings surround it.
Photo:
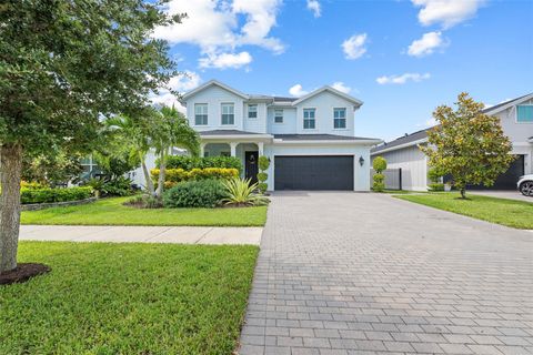
<path fill-rule="evenodd" d="M 262 226 L 266 206 L 241 209 L 135 209 L 129 197 L 103 199 L 90 204 L 22 212 L 22 224 L 66 225 L 207 225 Z"/>

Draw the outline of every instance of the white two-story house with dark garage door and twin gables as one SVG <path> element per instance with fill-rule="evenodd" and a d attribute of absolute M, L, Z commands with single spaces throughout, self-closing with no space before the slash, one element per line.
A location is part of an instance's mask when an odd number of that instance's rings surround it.
<path fill-rule="evenodd" d="M 370 149 L 381 140 L 354 135 L 363 104 L 355 98 L 331 87 L 302 98 L 251 95 L 211 80 L 182 103 L 202 155 L 240 158 L 252 181 L 266 155 L 269 190 L 370 190 Z"/>

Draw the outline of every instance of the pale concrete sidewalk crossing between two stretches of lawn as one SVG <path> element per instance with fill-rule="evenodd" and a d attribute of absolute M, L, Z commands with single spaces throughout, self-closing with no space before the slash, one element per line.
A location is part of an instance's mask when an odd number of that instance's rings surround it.
<path fill-rule="evenodd" d="M 252 244 L 262 227 L 21 225 L 21 241 Z"/>

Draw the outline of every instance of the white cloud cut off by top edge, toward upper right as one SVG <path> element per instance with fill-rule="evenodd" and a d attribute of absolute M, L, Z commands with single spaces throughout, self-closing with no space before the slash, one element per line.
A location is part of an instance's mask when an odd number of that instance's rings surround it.
<path fill-rule="evenodd" d="M 423 26 L 440 23 L 449 29 L 475 16 L 485 0 L 411 0 L 420 7 L 419 21 Z"/>

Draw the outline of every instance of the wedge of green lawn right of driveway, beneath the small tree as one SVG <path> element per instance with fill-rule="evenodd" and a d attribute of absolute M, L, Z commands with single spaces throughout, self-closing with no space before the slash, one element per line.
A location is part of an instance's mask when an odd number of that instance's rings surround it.
<path fill-rule="evenodd" d="M 466 195 L 469 200 L 459 199 L 457 192 L 394 197 L 515 229 L 533 230 L 533 203 L 467 193 Z"/>

